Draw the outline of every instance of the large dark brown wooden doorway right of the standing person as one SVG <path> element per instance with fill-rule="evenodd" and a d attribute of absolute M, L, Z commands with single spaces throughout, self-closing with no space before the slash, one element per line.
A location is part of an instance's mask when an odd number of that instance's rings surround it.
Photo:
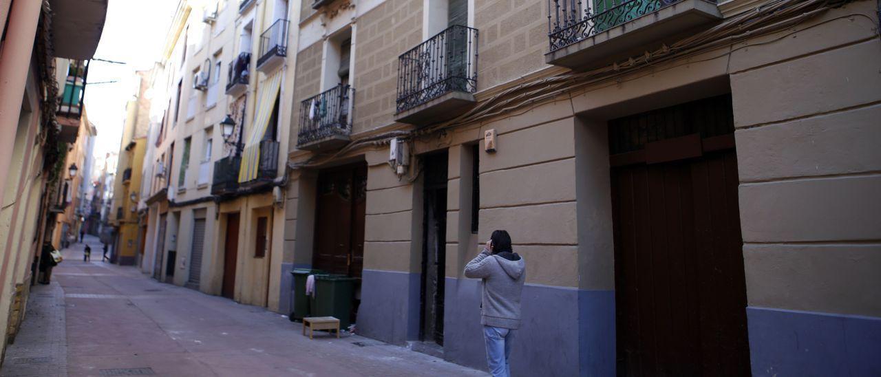
<path fill-rule="evenodd" d="M 730 95 L 609 122 L 619 375 L 749 375 Z"/>

